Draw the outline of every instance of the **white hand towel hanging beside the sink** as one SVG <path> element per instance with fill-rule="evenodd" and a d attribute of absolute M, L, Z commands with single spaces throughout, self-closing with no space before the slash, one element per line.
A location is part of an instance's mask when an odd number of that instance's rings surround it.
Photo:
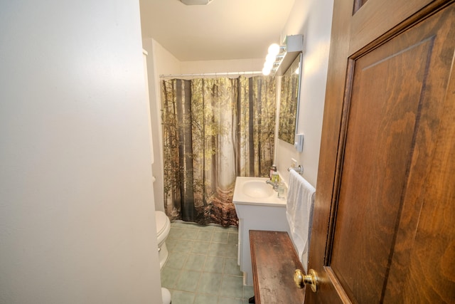
<path fill-rule="evenodd" d="M 291 170 L 286 201 L 286 216 L 291 231 L 291 239 L 299 253 L 299 258 L 308 271 L 308 249 L 313 221 L 314 194 L 316 189 L 300 174 Z"/>

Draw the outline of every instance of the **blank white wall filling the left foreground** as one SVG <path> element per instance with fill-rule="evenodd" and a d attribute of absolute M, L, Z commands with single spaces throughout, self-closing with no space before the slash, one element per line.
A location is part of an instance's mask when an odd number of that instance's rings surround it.
<path fill-rule="evenodd" d="M 161 303 L 139 1 L 2 1 L 0 303 Z"/>

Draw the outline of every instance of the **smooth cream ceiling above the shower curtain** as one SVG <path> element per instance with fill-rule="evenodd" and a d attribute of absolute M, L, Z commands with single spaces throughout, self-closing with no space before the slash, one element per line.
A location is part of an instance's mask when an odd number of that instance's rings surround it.
<path fill-rule="evenodd" d="M 154 38 L 179 61 L 265 58 L 279 43 L 295 0 L 140 0 L 144 38 Z"/>

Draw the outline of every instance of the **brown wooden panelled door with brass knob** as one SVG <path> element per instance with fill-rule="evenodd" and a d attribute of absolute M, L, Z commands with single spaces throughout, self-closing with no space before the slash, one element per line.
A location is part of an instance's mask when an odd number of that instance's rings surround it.
<path fill-rule="evenodd" d="M 306 303 L 455 303 L 454 1 L 335 1 Z"/>

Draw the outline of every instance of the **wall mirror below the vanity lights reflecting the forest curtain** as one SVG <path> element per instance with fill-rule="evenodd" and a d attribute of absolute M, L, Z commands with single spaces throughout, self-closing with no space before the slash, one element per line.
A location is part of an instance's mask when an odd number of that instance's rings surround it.
<path fill-rule="evenodd" d="M 296 135 L 297 112 L 300 99 L 302 54 L 291 63 L 291 66 L 282 76 L 281 93 L 279 99 L 278 138 L 294 145 Z"/>

